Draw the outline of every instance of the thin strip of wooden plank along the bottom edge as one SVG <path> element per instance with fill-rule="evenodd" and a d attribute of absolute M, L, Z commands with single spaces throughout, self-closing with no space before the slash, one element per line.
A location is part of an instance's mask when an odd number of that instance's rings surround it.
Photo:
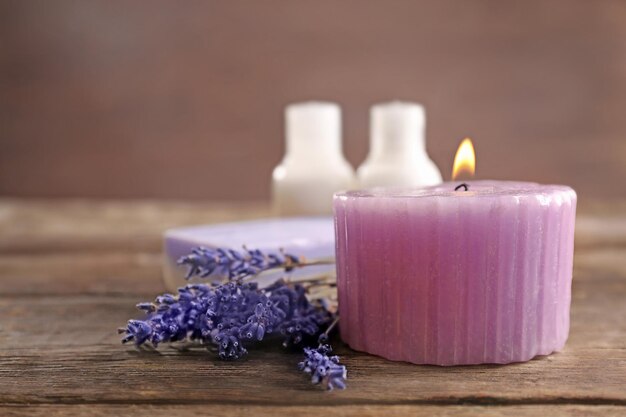
<path fill-rule="evenodd" d="M 514 405 L 514 406 L 435 406 L 435 405 L 334 405 L 334 406 L 260 406 L 260 405 L 36 405 L 3 406 L 0 415 L 5 417 L 110 417 L 133 415 L 136 417 L 185 417 L 211 415 L 212 417 L 388 417 L 412 416 L 485 416 L 485 417 L 536 417 L 602 416 L 621 417 L 626 407 L 612 405 Z"/>

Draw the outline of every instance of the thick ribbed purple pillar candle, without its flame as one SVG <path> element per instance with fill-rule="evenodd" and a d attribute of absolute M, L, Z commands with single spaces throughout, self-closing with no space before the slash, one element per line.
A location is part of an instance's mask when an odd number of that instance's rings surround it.
<path fill-rule="evenodd" d="M 576 193 L 458 184 L 335 195 L 340 331 L 352 348 L 457 365 L 564 346 Z"/>

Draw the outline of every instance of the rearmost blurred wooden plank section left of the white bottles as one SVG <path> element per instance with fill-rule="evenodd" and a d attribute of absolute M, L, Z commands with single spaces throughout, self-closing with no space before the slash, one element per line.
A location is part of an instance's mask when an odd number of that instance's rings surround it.
<path fill-rule="evenodd" d="M 0 199 L 0 253 L 159 252 L 168 228 L 270 216 L 267 203 Z"/>

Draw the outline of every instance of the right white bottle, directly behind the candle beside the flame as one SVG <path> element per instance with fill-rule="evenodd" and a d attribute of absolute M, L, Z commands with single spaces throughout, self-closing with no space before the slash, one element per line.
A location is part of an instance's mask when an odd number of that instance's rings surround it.
<path fill-rule="evenodd" d="M 372 106 L 370 152 L 357 171 L 360 187 L 441 183 L 441 173 L 426 153 L 425 127 L 419 104 L 394 101 Z"/>

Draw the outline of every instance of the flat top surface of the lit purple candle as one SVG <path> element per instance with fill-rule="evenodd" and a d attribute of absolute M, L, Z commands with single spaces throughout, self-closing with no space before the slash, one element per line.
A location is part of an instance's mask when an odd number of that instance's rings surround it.
<path fill-rule="evenodd" d="M 467 189 L 461 186 L 461 184 L 465 184 Z M 343 191 L 336 193 L 335 199 L 421 197 L 466 198 L 469 196 L 489 198 L 498 196 L 524 197 L 554 193 L 572 193 L 573 195 L 576 195 L 576 192 L 566 185 L 543 185 L 534 182 L 480 180 L 444 182 L 443 184 L 430 187 L 379 187 L 366 190 Z"/>

